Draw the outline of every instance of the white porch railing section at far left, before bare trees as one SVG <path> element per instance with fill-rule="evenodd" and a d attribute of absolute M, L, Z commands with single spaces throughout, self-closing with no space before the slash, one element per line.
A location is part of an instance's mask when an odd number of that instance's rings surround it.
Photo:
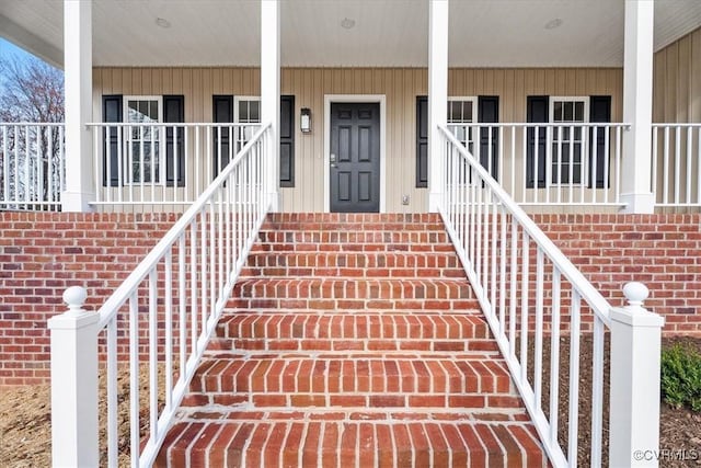
<path fill-rule="evenodd" d="M 59 209 L 65 169 L 64 124 L 0 123 L 0 209 Z"/>

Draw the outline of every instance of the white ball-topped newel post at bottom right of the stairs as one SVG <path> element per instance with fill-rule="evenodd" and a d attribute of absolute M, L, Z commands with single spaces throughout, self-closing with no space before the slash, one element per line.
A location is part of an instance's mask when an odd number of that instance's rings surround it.
<path fill-rule="evenodd" d="M 629 306 L 611 310 L 610 467 L 657 466 L 663 317 L 647 311 L 648 290 L 628 283 Z"/>

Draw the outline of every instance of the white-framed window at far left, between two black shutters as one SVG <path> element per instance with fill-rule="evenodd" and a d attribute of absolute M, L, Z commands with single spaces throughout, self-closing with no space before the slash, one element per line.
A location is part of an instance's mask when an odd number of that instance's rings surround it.
<path fill-rule="evenodd" d="M 128 183 L 160 183 L 163 163 L 156 124 L 162 122 L 162 105 L 159 96 L 126 96 L 124 99 L 125 123 L 147 124 L 130 127 L 127 134 Z"/>

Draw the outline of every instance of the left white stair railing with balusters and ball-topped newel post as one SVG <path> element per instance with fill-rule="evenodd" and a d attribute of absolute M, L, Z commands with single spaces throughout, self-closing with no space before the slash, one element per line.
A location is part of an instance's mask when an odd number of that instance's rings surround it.
<path fill-rule="evenodd" d="M 115 467 L 120 440 L 129 441 L 133 467 L 153 463 L 269 209 L 269 128 L 246 142 L 97 313 L 81 309 L 80 288 L 66 293 L 69 312 L 49 320 L 54 466 Z M 128 437 L 117 411 L 127 359 Z M 101 460 L 97 368 L 105 362 Z"/>

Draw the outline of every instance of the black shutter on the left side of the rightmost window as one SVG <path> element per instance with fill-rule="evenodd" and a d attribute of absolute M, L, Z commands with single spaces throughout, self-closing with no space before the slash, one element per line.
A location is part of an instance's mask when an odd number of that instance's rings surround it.
<path fill-rule="evenodd" d="M 526 118 L 529 124 L 542 124 L 549 121 L 550 98 L 547 95 L 529 95 L 526 101 Z M 545 186 L 545 159 L 548 132 L 541 127 L 538 129 L 536 141 L 536 127 L 526 129 L 526 186 L 533 189 L 536 185 L 536 156 L 538 156 L 538 187 Z"/>

